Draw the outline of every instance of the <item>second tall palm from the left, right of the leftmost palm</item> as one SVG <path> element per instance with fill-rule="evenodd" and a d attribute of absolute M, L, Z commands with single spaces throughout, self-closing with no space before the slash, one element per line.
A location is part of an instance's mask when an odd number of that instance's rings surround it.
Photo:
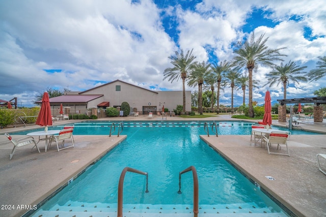
<path fill-rule="evenodd" d="M 202 87 L 207 75 L 210 73 L 210 64 L 196 63 L 195 67 L 189 74 L 188 86 L 194 87 L 198 85 L 198 111 L 203 114 L 203 94 Z"/>

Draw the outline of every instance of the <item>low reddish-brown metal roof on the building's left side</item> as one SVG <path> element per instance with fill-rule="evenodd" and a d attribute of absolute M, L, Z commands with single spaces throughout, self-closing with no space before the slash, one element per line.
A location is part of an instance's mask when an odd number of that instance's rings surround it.
<path fill-rule="evenodd" d="M 100 97 L 103 97 L 103 95 L 62 95 L 50 98 L 50 103 L 88 103 Z M 42 103 L 42 101 L 37 103 Z"/>

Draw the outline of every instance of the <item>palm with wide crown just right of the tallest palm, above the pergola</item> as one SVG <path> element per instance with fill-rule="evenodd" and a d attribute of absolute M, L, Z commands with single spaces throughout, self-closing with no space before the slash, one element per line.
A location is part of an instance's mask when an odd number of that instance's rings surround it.
<path fill-rule="evenodd" d="M 306 66 L 299 67 L 296 66 L 294 62 L 291 60 L 289 63 L 283 65 L 281 63 L 280 66 L 273 67 L 273 71 L 269 72 L 267 76 L 267 83 L 264 85 L 266 86 L 269 84 L 269 87 L 273 86 L 275 83 L 279 85 L 281 82 L 283 83 L 283 89 L 284 89 L 284 100 L 286 99 L 286 87 L 289 85 L 289 81 L 293 81 L 294 83 L 299 83 L 299 81 L 308 81 L 306 76 L 303 76 L 302 74 L 305 74 L 306 72 L 303 72 L 303 69 L 306 69 Z"/>

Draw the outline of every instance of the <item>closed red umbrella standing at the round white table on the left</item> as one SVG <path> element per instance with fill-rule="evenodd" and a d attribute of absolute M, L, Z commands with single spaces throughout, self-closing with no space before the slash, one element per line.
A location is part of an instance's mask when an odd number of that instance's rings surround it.
<path fill-rule="evenodd" d="M 44 92 L 43 94 L 42 105 L 41 105 L 39 116 L 37 117 L 36 120 L 36 124 L 39 126 L 44 126 L 45 132 L 47 132 L 47 126 L 52 125 L 50 99 L 47 92 Z"/>

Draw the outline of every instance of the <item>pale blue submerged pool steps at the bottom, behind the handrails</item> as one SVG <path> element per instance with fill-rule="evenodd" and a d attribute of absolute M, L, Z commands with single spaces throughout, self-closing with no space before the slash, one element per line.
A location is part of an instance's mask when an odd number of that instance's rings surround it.
<path fill-rule="evenodd" d="M 125 217 L 192 217 L 193 205 L 174 205 L 174 204 L 124 204 L 123 216 Z M 65 205 L 55 205 L 50 210 L 38 210 L 33 216 L 76 216 L 76 217 L 113 217 L 117 216 L 117 204 L 105 203 L 83 203 L 69 201 Z M 282 211 L 270 210 L 268 207 L 260 208 L 255 203 L 236 203 L 218 205 L 200 205 L 199 216 L 287 216 Z"/>

